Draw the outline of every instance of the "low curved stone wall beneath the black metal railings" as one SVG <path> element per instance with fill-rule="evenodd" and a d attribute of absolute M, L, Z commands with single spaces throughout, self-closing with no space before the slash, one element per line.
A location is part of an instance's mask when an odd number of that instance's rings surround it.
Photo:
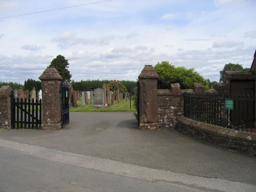
<path fill-rule="evenodd" d="M 256 156 L 256 134 L 226 129 L 180 116 L 176 130 L 190 137 Z"/>

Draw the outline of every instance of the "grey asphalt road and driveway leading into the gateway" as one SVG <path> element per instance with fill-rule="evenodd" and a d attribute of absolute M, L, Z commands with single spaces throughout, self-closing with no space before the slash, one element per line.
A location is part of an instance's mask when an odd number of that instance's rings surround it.
<path fill-rule="evenodd" d="M 60 131 L 0 130 L 0 154 L 0 191 L 256 191 L 255 157 L 138 130 L 132 113 L 74 112 Z"/>

